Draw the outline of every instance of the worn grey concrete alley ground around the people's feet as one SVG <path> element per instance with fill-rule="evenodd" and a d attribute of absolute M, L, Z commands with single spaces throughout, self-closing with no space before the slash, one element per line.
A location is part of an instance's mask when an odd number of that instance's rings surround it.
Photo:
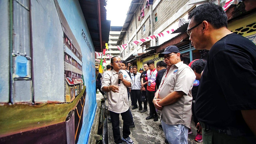
<path fill-rule="evenodd" d="M 130 102 L 130 101 L 129 101 Z M 164 132 L 161 130 L 158 126 L 160 123 L 160 120 L 157 122 L 154 122 L 153 119 L 146 120 L 146 117 L 149 115 L 149 106 L 148 106 L 148 112 L 141 113 L 138 111 L 138 108 L 135 110 L 132 110 L 131 102 L 130 102 L 130 110 L 132 112 L 132 116 L 135 123 L 135 128 L 130 128 L 131 134 L 130 138 L 134 141 L 134 144 L 164 144 Z M 110 117 L 109 115 L 107 116 Z M 120 133 L 122 136 L 122 117 L 121 114 L 119 116 L 120 119 Z M 193 134 L 188 135 L 188 144 L 202 144 L 202 142 L 196 142 L 194 141 L 194 138 L 196 136 L 196 127 L 194 125 L 194 122 L 191 122 L 191 128 Z M 115 144 L 114 138 L 113 138 L 113 132 L 112 132 L 112 124 L 111 122 L 108 122 L 108 144 Z M 122 144 L 125 144 L 125 142 L 122 142 Z"/>

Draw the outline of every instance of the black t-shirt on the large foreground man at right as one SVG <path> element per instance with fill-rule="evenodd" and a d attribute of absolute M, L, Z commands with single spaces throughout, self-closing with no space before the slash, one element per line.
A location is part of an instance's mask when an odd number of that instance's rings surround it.
<path fill-rule="evenodd" d="M 206 124 L 248 130 L 240 110 L 256 109 L 256 46 L 228 34 L 208 53 L 198 95 L 196 117 Z"/>

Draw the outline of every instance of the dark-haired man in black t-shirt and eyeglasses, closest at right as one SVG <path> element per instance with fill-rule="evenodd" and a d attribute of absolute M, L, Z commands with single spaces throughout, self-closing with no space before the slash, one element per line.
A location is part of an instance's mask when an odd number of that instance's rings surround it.
<path fill-rule="evenodd" d="M 195 102 L 205 144 L 255 144 L 256 46 L 227 29 L 221 6 L 204 3 L 188 17 L 198 50 L 210 50 Z"/>

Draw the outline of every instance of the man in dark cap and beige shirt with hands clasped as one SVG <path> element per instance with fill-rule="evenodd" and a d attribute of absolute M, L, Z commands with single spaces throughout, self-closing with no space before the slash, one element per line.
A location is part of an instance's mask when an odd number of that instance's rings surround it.
<path fill-rule="evenodd" d="M 167 46 L 159 54 L 168 66 L 153 99 L 156 109 L 162 111 L 162 128 L 170 144 L 187 144 L 191 121 L 191 89 L 196 76 L 180 60 L 176 46 Z"/>

